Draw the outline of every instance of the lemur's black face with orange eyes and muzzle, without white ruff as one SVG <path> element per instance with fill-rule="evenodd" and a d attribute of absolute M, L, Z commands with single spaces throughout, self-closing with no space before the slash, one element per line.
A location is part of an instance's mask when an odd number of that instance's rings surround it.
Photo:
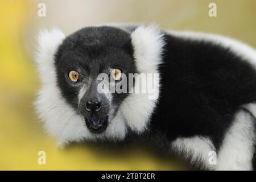
<path fill-rule="evenodd" d="M 63 98 L 96 134 L 106 130 L 128 94 L 110 92 L 111 87 L 126 84 L 128 74 L 137 72 L 130 35 L 111 27 L 83 28 L 68 36 L 56 52 L 55 68 Z M 102 81 L 109 92 L 101 92 Z"/>

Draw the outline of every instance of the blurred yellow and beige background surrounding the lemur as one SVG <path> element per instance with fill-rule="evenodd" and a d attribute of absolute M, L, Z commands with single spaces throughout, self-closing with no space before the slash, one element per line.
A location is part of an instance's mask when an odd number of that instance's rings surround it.
<path fill-rule="evenodd" d="M 40 2 L 46 4 L 45 17 L 38 16 Z M 217 17 L 208 15 L 210 2 L 217 4 Z M 155 22 L 164 29 L 228 35 L 256 47 L 255 8 L 254 0 L 0 0 L 0 169 L 189 169 L 135 146 L 57 148 L 33 108 L 40 86 L 32 61 L 36 33 L 43 27 L 59 27 L 68 35 L 98 23 Z M 46 165 L 38 164 L 39 151 L 46 151 Z"/>

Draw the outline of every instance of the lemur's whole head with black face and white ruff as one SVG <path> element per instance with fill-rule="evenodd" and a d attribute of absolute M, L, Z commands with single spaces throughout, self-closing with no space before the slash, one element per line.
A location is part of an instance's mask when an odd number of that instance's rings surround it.
<path fill-rule="evenodd" d="M 132 32 L 86 27 L 67 37 L 57 29 L 42 31 L 36 54 L 42 88 L 36 109 L 46 131 L 65 144 L 121 140 L 128 128 L 146 130 L 158 84 L 154 99 L 148 97 L 152 93 L 134 89 L 141 86 L 139 74 L 158 73 L 162 49 L 163 34 L 152 25 Z"/>

